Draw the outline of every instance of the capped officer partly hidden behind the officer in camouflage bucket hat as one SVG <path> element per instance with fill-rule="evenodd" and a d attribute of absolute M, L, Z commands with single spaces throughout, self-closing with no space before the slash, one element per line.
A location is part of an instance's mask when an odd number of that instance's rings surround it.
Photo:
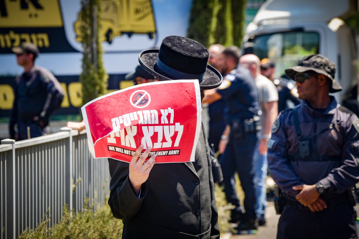
<path fill-rule="evenodd" d="M 275 78 L 275 65 L 268 58 L 261 60 L 261 74 L 271 80 L 278 90 L 278 112 L 292 108 L 300 103 L 297 88 L 293 80 L 284 77 Z"/>

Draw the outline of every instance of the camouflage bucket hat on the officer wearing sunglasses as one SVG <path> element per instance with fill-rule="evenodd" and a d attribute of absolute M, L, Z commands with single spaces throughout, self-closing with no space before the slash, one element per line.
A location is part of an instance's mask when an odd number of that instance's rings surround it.
<path fill-rule="evenodd" d="M 327 76 L 331 81 L 332 85 L 329 92 L 334 93 L 342 90 L 342 87 L 334 79 L 335 76 L 335 64 L 330 59 L 322 56 L 321 54 L 312 54 L 303 57 L 298 63 L 298 66 L 289 67 L 285 70 L 285 73 L 289 78 L 294 79 L 294 76 L 298 73 L 306 71 L 314 71 L 318 74 Z"/>

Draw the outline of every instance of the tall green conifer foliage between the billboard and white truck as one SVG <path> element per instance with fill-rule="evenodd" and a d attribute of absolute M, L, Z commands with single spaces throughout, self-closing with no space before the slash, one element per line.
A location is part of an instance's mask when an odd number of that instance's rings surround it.
<path fill-rule="evenodd" d="M 209 47 L 240 46 L 246 0 L 193 0 L 187 37 Z"/>

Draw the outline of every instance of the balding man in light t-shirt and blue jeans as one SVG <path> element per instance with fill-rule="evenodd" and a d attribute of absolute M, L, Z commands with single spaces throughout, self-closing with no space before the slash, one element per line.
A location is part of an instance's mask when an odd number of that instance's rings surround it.
<path fill-rule="evenodd" d="M 266 207 L 266 177 L 267 177 L 267 142 L 271 137 L 271 128 L 278 116 L 278 91 L 272 81 L 260 74 L 260 59 L 254 54 L 243 55 L 239 64 L 248 68 L 255 78 L 261 106 L 261 130 L 258 133 L 258 142 L 253 154 L 254 183 L 256 186 L 256 214 L 259 225 L 265 225 Z"/>

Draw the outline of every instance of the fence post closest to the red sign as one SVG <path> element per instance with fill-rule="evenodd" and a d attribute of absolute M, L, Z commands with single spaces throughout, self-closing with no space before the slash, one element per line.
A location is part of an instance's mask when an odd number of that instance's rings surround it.
<path fill-rule="evenodd" d="M 65 165 L 66 165 L 66 185 L 69 186 L 69 190 L 66 192 L 65 201 L 66 204 L 69 205 L 70 215 L 72 216 L 72 209 L 73 209 L 73 196 L 72 196 L 72 186 L 73 186 L 73 153 L 72 153 L 72 134 L 71 128 L 69 127 L 62 127 L 60 131 L 62 132 L 69 132 L 69 140 L 66 145 L 66 156 L 65 156 Z"/>

